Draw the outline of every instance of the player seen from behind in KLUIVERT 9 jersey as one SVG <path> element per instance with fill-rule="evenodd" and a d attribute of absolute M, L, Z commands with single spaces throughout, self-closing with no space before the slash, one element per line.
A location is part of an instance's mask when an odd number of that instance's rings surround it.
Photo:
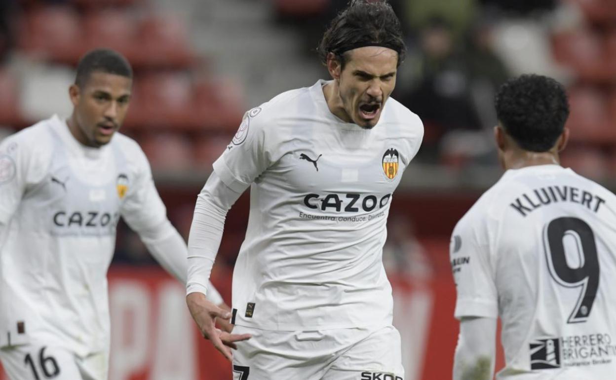
<path fill-rule="evenodd" d="M 450 259 L 460 319 L 453 378 L 607 380 L 616 373 L 616 197 L 559 164 L 567 95 L 523 75 L 496 96 L 505 174 L 458 222 Z"/>

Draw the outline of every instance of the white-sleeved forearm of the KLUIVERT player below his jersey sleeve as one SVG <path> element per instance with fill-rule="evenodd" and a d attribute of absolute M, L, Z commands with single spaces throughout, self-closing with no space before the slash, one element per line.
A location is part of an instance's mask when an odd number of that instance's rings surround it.
<path fill-rule="evenodd" d="M 495 362 L 495 318 L 462 318 L 453 380 L 490 380 Z"/>

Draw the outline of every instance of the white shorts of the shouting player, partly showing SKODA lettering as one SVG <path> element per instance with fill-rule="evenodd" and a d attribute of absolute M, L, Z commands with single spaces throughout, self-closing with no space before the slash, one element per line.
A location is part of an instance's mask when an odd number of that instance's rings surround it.
<path fill-rule="evenodd" d="M 400 334 L 394 326 L 252 334 L 233 352 L 233 380 L 403 380 Z"/>

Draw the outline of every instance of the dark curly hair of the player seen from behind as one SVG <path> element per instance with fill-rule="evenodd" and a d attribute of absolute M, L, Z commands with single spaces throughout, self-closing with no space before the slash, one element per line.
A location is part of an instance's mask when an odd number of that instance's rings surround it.
<path fill-rule="evenodd" d="M 567 94 L 546 76 L 509 79 L 496 94 L 496 116 L 522 149 L 546 152 L 556 144 L 569 117 Z"/>

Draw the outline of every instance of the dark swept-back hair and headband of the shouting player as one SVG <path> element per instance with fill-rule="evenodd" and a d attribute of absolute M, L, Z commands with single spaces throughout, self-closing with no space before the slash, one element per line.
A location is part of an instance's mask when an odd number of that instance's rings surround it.
<path fill-rule="evenodd" d="M 331 21 L 317 52 L 325 65 L 327 55 L 333 53 L 344 69 L 345 53 L 363 46 L 389 47 L 398 53 L 398 66 L 404 60 L 407 49 L 402 26 L 386 0 L 352 0 Z"/>

